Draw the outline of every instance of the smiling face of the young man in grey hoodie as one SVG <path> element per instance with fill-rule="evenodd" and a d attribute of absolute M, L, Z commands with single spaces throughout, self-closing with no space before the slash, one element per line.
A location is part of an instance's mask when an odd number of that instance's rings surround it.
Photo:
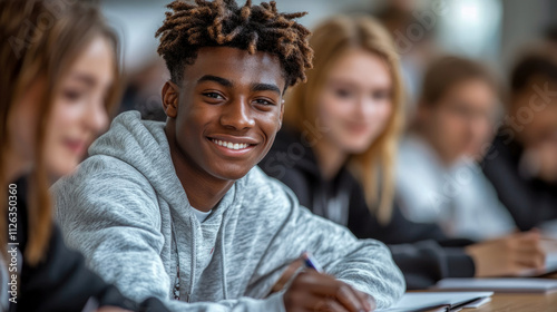
<path fill-rule="evenodd" d="M 285 84 L 281 62 L 271 53 L 201 49 L 185 67 L 177 107 L 166 109 L 180 156 L 213 177 L 246 175 L 281 127 Z"/>

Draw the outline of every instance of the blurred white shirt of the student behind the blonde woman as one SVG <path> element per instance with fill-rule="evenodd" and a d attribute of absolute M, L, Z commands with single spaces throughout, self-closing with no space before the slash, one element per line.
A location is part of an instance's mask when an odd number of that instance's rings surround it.
<path fill-rule="evenodd" d="M 414 135 L 400 146 L 397 195 L 409 220 L 438 223 L 450 237 L 486 240 L 516 227 L 476 162 L 462 158 L 446 167 Z"/>

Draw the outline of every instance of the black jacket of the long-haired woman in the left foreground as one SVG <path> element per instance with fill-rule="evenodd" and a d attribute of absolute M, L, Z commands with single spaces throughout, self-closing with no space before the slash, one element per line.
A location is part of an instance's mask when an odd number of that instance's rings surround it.
<path fill-rule="evenodd" d="M 10 302 L 9 311 L 81 312 L 91 298 L 91 301 L 96 301 L 99 306 L 114 305 L 133 311 L 168 311 L 155 299 L 137 305 L 124 298 L 115 286 L 105 283 L 86 267 L 81 254 L 66 247 L 60 230 L 56 225 L 52 225 L 46 256 L 39 264 L 29 265 L 25 260 L 28 234 L 26 179 L 20 178 L 16 185 L 17 235 L 9 237 L 8 243 L 19 243 L 18 261 L 22 263 L 19 267 L 21 271 L 18 272 L 20 277 L 17 303 Z"/>

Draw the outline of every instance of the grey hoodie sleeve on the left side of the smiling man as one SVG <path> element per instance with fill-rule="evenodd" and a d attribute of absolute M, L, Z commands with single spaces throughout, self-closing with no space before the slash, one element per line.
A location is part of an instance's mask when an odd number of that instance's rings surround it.
<path fill-rule="evenodd" d="M 57 221 L 67 244 L 121 293 L 138 302 L 157 298 L 170 311 L 285 311 L 282 293 L 214 303 L 169 300 L 170 279 L 160 259 L 165 238 L 153 187 L 124 163 L 116 175 L 113 163 L 89 160 L 52 187 Z"/>

